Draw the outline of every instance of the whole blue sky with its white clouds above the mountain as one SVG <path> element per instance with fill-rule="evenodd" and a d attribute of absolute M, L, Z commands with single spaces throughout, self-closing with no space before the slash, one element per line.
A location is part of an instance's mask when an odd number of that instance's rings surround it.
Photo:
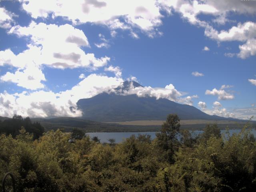
<path fill-rule="evenodd" d="M 77 100 L 127 79 L 145 86 L 127 94 L 255 116 L 256 2 L 0 1 L 0 116 L 80 116 Z"/>

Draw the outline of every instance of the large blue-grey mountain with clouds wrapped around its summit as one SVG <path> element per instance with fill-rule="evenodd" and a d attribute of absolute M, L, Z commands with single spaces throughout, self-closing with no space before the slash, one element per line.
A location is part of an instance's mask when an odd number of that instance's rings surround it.
<path fill-rule="evenodd" d="M 131 85 L 141 86 L 137 82 L 124 82 L 116 92 L 124 92 Z M 133 120 L 165 120 L 168 114 L 178 114 L 182 120 L 235 120 L 220 116 L 211 116 L 186 104 L 178 104 L 168 99 L 138 97 L 136 94 L 122 95 L 101 93 L 92 98 L 80 99 L 77 102 L 83 111 L 83 118 L 98 122 L 122 122 Z"/>

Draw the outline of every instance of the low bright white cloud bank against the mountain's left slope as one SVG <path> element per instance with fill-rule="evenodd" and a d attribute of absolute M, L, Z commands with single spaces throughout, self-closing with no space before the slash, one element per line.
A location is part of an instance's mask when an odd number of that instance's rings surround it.
<path fill-rule="evenodd" d="M 20 94 L 0 93 L 0 116 L 12 117 L 14 114 L 30 117 L 82 116 L 76 102 L 90 98 L 103 91 L 116 88 L 122 78 L 91 74 L 76 86 L 64 92 L 34 91 Z"/>

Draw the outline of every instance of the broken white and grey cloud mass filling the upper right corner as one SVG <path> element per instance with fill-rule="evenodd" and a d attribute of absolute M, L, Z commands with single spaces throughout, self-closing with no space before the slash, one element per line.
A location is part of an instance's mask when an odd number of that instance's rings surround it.
<path fill-rule="evenodd" d="M 218 24 L 225 24 L 226 22 L 235 22 L 227 18 L 230 12 L 239 14 L 255 14 L 256 4 L 253 1 L 232 1 L 226 0 L 222 2 L 214 0 L 159 0 L 162 9 L 171 14 L 172 10 L 181 14 L 182 18 L 187 20 L 190 24 L 203 27 L 205 29 L 205 36 L 216 40 L 223 41 L 240 41 L 245 44 L 240 45 L 240 52 L 236 54 L 240 58 L 247 58 L 256 54 L 255 38 L 256 32 L 255 22 L 238 23 L 237 26 L 232 26 L 229 30 L 220 30 L 220 32 L 213 28 L 211 21 L 200 20 L 200 14 L 207 14 L 214 17 L 213 22 Z M 233 56 L 226 54 L 226 56 Z"/>

